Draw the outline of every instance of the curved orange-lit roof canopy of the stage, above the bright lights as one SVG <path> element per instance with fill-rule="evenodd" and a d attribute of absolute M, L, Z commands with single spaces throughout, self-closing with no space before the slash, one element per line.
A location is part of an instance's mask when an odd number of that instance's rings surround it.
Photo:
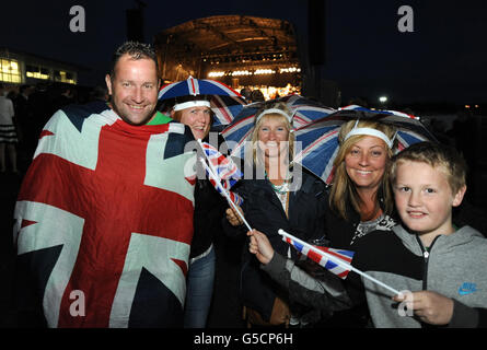
<path fill-rule="evenodd" d="M 283 20 L 218 15 L 193 20 L 156 34 L 164 79 L 175 71 L 205 78 L 210 70 L 299 66 L 293 26 Z M 178 79 L 185 79 L 182 74 Z"/>

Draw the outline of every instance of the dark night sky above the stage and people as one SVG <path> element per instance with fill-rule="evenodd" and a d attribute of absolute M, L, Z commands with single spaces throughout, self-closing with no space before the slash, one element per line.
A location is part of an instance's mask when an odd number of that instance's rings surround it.
<path fill-rule="evenodd" d="M 144 0 L 146 42 L 167 27 L 197 18 L 246 14 L 291 22 L 306 50 L 306 1 Z M 398 103 L 487 102 L 487 2 L 328 0 L 323 78 L 336 81 L 344 96 Z M 414 10 L 414 32 L 401 33 L 401 5 Z M 69 9 L 82 5 L 84 33 L 72 33 Z M 92 71 L 79 83 L 103 82 L 113 50 L 126 39 L 127 9 L 134 0 L 4 1 L 0 46 L 78 63 Z"/>

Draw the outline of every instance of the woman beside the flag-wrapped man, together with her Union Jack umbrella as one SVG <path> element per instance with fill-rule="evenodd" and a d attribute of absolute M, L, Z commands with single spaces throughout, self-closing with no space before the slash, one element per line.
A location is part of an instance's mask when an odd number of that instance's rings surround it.
<path fill-rule="evenodd" d="M 193 77 L 162 86 L 158 98 L 160 109 L 170 114 L 173 120 L 188 126 L 195 140 L 211 141 L 217 149 L 224 141 L 213 132 L 214 138 L 210 138 L 210 129 L 228 124 L 244 104 L 240 94 L 225 84 Z M 198 170 L 198 174 L 204 172 Z M 204 328 L 207 324 L 216 276 L 213 238 L 221 232 L 224 208 L 224 199 L 209 180 L 198 178 L 185 302 L 186 328 Z"/>

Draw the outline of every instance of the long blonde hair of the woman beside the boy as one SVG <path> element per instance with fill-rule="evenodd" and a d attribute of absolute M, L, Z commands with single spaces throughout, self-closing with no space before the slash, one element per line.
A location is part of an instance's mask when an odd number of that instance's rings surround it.
<path fill-rule="evenodd" d="M 347 170 L 345 168 L 345 158 L 350 152 L 351 148 L 367 137 L 367 135 L 355 135 L 345 140 L 345 137 L 348 135 L 348 132 L 353 129 L 356 126 L 357 120 L 350 120 L 347 124 L 344 124 L 340 132 L 338 135 L 338 154 L 335 158 L 335 161 L 333 163 L 335 167 L 335 174 L 333 177 L 333 186 L 329 195 L 329 207 L 333 211 L 335 211 L 339 217 L 347 220 L 347 203 L 351 202 L 353 209 L 357 212 L 360 212 L 360 197 L 357 192 L 357 189 L 350 179 L 350 177 L 347 174 Z M 376 129 L 379 131 L 382 131 L 385 133 L 390 140 L 394 138 L 395 135 L 395 128 L 385 124 L 381 124 L 378 121 L 372 120 L 359 120 L 357 124 L 358 128 L 372 128 Z M 384 142 L 385 144 L 385 142 Z M 384 203 L 383 203 L 383 210 L 386 214 L 390 214 L 393 211 L 394 208 L 394 198 L 390 186 L 390 177 L 389 177 L 389 171 L 390 171 L 390 160 L 393 156 L 393 150 L 391 150 L 387 145 L 385 145 L 387 149 L 387 162 L 385 165 L 384 175 L 381 179 L 381 184 L 379 185 L 379 188 L 382 189 Z M 379 198 L 376 198 L 379 200 Z"/>

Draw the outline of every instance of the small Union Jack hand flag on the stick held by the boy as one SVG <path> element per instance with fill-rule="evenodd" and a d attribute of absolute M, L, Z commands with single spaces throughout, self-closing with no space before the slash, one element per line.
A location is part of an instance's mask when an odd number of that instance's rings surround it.
<path fill-rule="evenodd" d="M 320 264 L 325 269 L 335 273 L 336 276 L 338 276 L 341 279 L 346 279 L 348 276 L 348 272 L 350 272 L 350 270 L 351 270 L 351 269 L 345 268 L 344 266 L 333 261 L 333 259 L 329 258 L 328 256 L 326 256 L 325 254 L 346 262 L 346 265 L 350 265 L 351 260 L 353 258 L 355 252 L 345 250 L 345 249 L 334 249 L 334 248 L 322 247 L 322 246 L 316 246 L 316 245 L 312 246 L 305 242 L 302 242 L 299 238 L 291 236 L 290 234 L 282 234 L 282 241 L 292 245 L 302 255 L 304 255 L 304 256 L 309 257 L 310 259 L 312 259 L 313 261 Z M 315 249 L 311 249 L 310 246 L 314 247 Z M 320 254 L 320 252 L 317 252 L 317 250 L 322 250 L 325 254 Z"/>

